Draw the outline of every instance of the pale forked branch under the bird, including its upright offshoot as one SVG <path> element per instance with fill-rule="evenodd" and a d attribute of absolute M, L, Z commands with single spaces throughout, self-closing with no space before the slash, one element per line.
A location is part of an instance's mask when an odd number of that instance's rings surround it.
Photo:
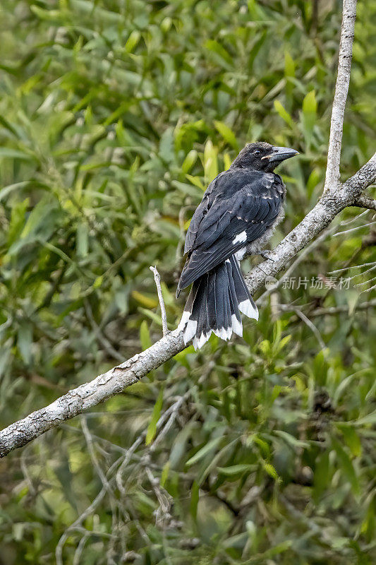
<path fill-rule="evenodd" d="M 376 179 L 376 153 L 344 184 L 339 185 L 339 155 L 341 151 L 341 126 L 348 90 L 355 20 L 356 1 L 344 0 L 344 18 L 341 32 L 339 73 L 336 82 L 334 109 L 329 141 L 327 178 L 325 191 L 313 210 L 298 224 L 261 265 L 246 275 L 245 280 L 252 294 L 265 283 L 267 276 L 276 275 L 286 267 L 298 251 L 307 246 L 329 225 L 346 206 L 359 201 L 362 191 Z M 46 408 L 32 412 L 19 422 L 0 432 L 0 457 L 17 447 L 28 444 L 47 430 L 59 426 L 88 408 L 104 402 L 124 388 L 131 386 L 153 369 L 157 369 L 171 357 L 184 349 L 183 335 L 174 330 L 154 343 L 147 350 L 128 359 L 117 367 L 97 376 L 61 396 Z"/>

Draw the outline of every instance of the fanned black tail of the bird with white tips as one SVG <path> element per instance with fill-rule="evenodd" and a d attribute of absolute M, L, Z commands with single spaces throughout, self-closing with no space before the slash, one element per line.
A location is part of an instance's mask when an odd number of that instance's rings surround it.
<path fill-rule="evenodd" d="M 243 335 L 241 312 L 258 319 L 256 304 L 233 255 L 195 280 L 178 329 L 183 331 L 185 344 L 193 338 L 197 350 L 212 331 L 224 340 L 229 340 L 233 331 Z"/>

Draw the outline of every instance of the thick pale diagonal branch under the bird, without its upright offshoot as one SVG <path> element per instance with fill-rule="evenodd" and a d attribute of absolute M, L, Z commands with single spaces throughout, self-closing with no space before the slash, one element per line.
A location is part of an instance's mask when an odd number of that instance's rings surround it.
<path fill-rule="evenodd" d="M 334 186 L 320 198 L 315 208 L 310 210 L 301 223 L 269 254 L 272 261 L 269 259 L 263 261 L 245 276 L 250 292 L 255 294 L 260 290 L 266 276 L 277 275 L 298 251 L 332 222 L 341 210 L 351 206 L 360 196 L 361 191 L 375 179 L 376 153 L 364 167 L 342 185 L 341 191 Z M 142 353 L 97 376 L 93 381 L 74 388 L 46 408 L 36 410 L 23 420 L 11 424 L 0 432 L 0 457 L 28 444 L 32 439 L 59 426 L 61 422 L 81 414 L 87 408 L 92 408 L 114 394 L 121 393 L 124 388 L 139 381 L 142 376 L 157 369 L 184 348 L 182 333 L 174 330 Z"/>

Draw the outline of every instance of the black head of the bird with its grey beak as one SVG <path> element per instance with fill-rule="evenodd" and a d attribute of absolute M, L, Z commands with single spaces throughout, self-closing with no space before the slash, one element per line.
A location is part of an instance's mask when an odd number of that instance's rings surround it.
<path fill-rule="evenodd" d="M 294 155 L 298 155 L 298 151 L 289 147 L 276 147 L 265 141 L 247 143 L 231 166 L 271 172 L 282 161 Z"/>

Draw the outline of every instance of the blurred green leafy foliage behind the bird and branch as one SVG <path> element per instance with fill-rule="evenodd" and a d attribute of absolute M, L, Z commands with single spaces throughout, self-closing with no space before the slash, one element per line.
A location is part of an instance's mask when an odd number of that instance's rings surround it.
<path fill-rule="evenodd" d="M 314 206 L 341 3 L 2 0 L 0 16 L 4 427 L 162 335 L 150 265 L 176 327 L 184 232 L 246 142 L 301 153 L 272 246 Z M 344 178 L 375 151 L 375 18 L 361 1 Z M 244 340 L 188 347 L 1 460 L 0 564 L 374 564 L 373 218 L 342 213 Z"/>

